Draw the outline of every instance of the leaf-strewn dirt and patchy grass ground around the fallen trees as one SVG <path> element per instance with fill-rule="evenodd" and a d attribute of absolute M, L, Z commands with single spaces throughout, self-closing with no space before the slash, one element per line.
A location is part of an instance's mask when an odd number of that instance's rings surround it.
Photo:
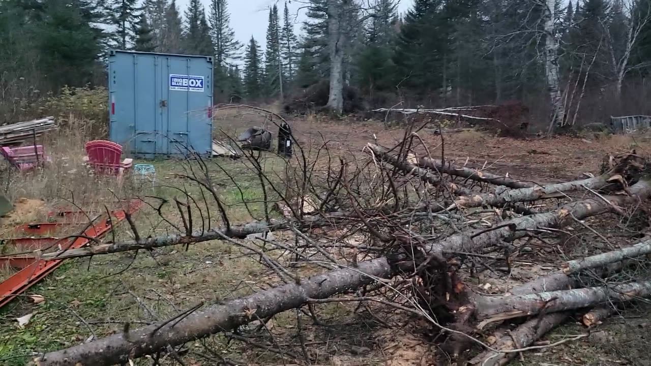
<path fill-rule="evenodd" d="M 237 120 L 225 118 L 218 123 L 222 124 L 223 131 L 234 135 L 247 126 L 261 126 L 265 121 L 247 116 Z M 404 129 L 385 129 L 377 121 L 332 121 L 308 116 L 290 120 L 290 124 L 305 148 L 316 150 L 323 141 L 330 141 L 331 151 L 342 156 L 364 154 L 365 145 L 374 141 L 393 146 L 404 136 Z M 276 131 L 274 127 L 270 130 Z M 443 132 L 441 139 L 432 131 L 433 128 L 426 128 L 418 134 L 434 157 L 445 156 L 457 163 L 467 162 L 469 167 L 483 167 L 492 173 L 508 173 L 536 182 L 558 182 L 575 179 L 583 173 L 598 173 L 605 154 L 630 148 L 651 156 L 651 143 L 645 135 L 526 140 L 467 130 L 450 134 Z M 250 180 L 250 191 L 232 190 L 224 176 L 217 175 L 221 179 L 217 183 L 227 190 L 227 198 L 233 201 L 245 196 L 255 201 L 260 198 L 253 188 L 256 177 L 249 176 L 250 172 L 239 164 L 225 163 L 227 171 Z M 161 182 L 170 185 L 178 183 L 174 175 L 184 171 L 180 165 L 171 163 L 156 162 L 156 166 Z M 165 197 L 174 195 L 171 192 L 165 194 L 169 195 Z M 21 217 L 28 218 L 29 215 Z M 238 222 L 251 218 L 245 212 L 238 212 L 234 217 Z M 152 208 L 143 209 L 137 220 L 143 235 L 160 235 L 169 230 L 158 222 Z M 598 221 L 593 223 L 596 224 Z M 608 238 L 616 240 L 618 234 L 620 232 L 613 231 Z M 128 238 L 126 230 L 120 235 Z M 588 236 L 575 240 L 572 245 L 563 247 L 564 254 L 593 251 L 594 247 L 584 247 L 589 246 L 591 240 L 594 238 Z M 621 244 L 623 246 L 626 242 Z M 521 260 L 531 264 L 540 257 L 547 257 L 553 262 L 560 255 L 556 251 L 537 254 L 538 257 L 532 255 Z M 242 296 L 267 288 L 276 281 L 255 260 L 248 259 L 225 243 L 204 243 L 190 246 L 187 250 L 184 247 L 166 247 L 155 254 L 141 253 L 137 257 L 133 257 L 133 253 L 100 257 L 68 260 L 25 294 L 44 296 L 45 302 L 35 304 L 27 296 L 21 296 L 0 309 L 0 364 L 24 365 L 31 358 L 31 352 L 55 350 L 90 337 L 104 337 L 120 331 L 125 321 L 137 324 L 154 322 L 199 301 L 211 303 Z M 542 260 L 538 265 L 546 268 Z M 493 281 L 491 277 L 486 278 L 486 281 Z M 494 279 L 494 283 L 499 286 L 499 279 Z M 350 310 L 350 307 L 337 303 L 324 305 L 318 311 L 323 323 L 319 325 L 312 324 L 304 314 L 290 311 L 267 324 L 273 337 L 263 337 L 260 341 L 270 341 L 277 347 L 292 350 L 297 353 L 296 358 L 301 359 L 298 337 L 303 337 L 302 343 L 307 346 L 310 358 L 316 360 L 313 364 L 318 365 L 421 366 L 434 363 L 432 354 L 436 352 L 436 345 L 426 324 L 376 306 L 355 314 Z M 651 365 L 651 356 L 646 353 L 646 344 L 651 337 L 651 317 L 646 310 L 646 307 L 639 306 L 624 311 L 591 330 L 596 335 L 526 352 L 524 361 L 516 359 L 512 365 Z M 28 313 L 33 314 L 30 324 L 19 327 L 16 318 Z M 303 319 L 301 332 L 296 328 L 297 316 Z M 385 328 L 387 322 L 393 326 L 390 330 Z M 570 321 L 549 333 L 545 340 L 553 343 L 586 331 L 577 321 Z M 221 335 L 187 345 L 182 356 L 186 365 L 220 364 L 214 361 L 217 356 L 206 357 L 209 350 L 230 359 L 231 364 L 292 364 L 292 358 L 278 356 L 271 347 L 260 350 L 236 341 L 228 342 Z M 141 360 L 137 364 L 146 365 L 150 361 Z M 168 360 L 165 364 L 171 365 L 174 361 Z"/>

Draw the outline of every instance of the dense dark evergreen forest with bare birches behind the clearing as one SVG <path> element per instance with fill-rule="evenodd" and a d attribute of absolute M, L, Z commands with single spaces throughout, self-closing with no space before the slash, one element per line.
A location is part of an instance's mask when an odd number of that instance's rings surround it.
<path fill-rule="evenodd" d="M 104 86 L 111 48 L 214 55 L 215 102 L 329 81 L 366 107 L 521 102 L 542 125 L 651 114 L 651 0 L 415 0 L 406 14 L 396 0 L 301 1 L 302 23 L 269 9 L 262 49 L 236 40 L 227 0 L 0 0 L 0 122 Z"/>

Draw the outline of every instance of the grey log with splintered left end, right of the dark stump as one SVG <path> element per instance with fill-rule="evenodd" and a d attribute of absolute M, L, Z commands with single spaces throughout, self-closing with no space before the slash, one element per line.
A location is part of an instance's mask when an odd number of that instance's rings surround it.
<path fill-rule="evenodd" d="M 590 287 L 516 296 L 484 297 L 475 304 L 475 317 L 479 329 L 492 322 L 528 317 L 538 313 L 557 313 L 594 307 L 607 301 L 625 302 L 634 296 L 649 296 L 651 281 L 627 283 L 615 287 Z"/>

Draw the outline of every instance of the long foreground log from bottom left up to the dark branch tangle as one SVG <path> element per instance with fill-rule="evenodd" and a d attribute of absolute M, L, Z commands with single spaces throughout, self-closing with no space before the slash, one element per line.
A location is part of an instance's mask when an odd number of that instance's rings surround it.
<path fill-rule="evenodd" d="M 288 283 L 213 305 L 187 317 L 177 317 L 180 319 L 178 322 L 173 318 L 90 343 L 49 352 L 36 358 L 34 363 L 38 366 L 101 366 L 128 363 L 129 358 L 140 358 L 168 346 L 182 345 L 206 335 L 233 330 L 254 320 L 300 307 L 311 299 L 329 298 L 355 290 L 376 282 L 378 278 L 389 278 L 394 273 L 385 258 L 366 260 L 359 262 L 355 268 L 334 270 L 302 279 L 301 283 Z"/>

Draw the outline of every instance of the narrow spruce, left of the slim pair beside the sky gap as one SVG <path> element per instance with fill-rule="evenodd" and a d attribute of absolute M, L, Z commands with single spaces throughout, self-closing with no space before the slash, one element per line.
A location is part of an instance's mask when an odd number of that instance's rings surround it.
<path fill-rule="evenodd" d="M 282 63 L 280 26 L 278 7 L 273 5 L 269 10 L 269 25 L 267 27 L 267 49 L 264 57 L 264 87 L 267 96 L 283 97 Z"/>

